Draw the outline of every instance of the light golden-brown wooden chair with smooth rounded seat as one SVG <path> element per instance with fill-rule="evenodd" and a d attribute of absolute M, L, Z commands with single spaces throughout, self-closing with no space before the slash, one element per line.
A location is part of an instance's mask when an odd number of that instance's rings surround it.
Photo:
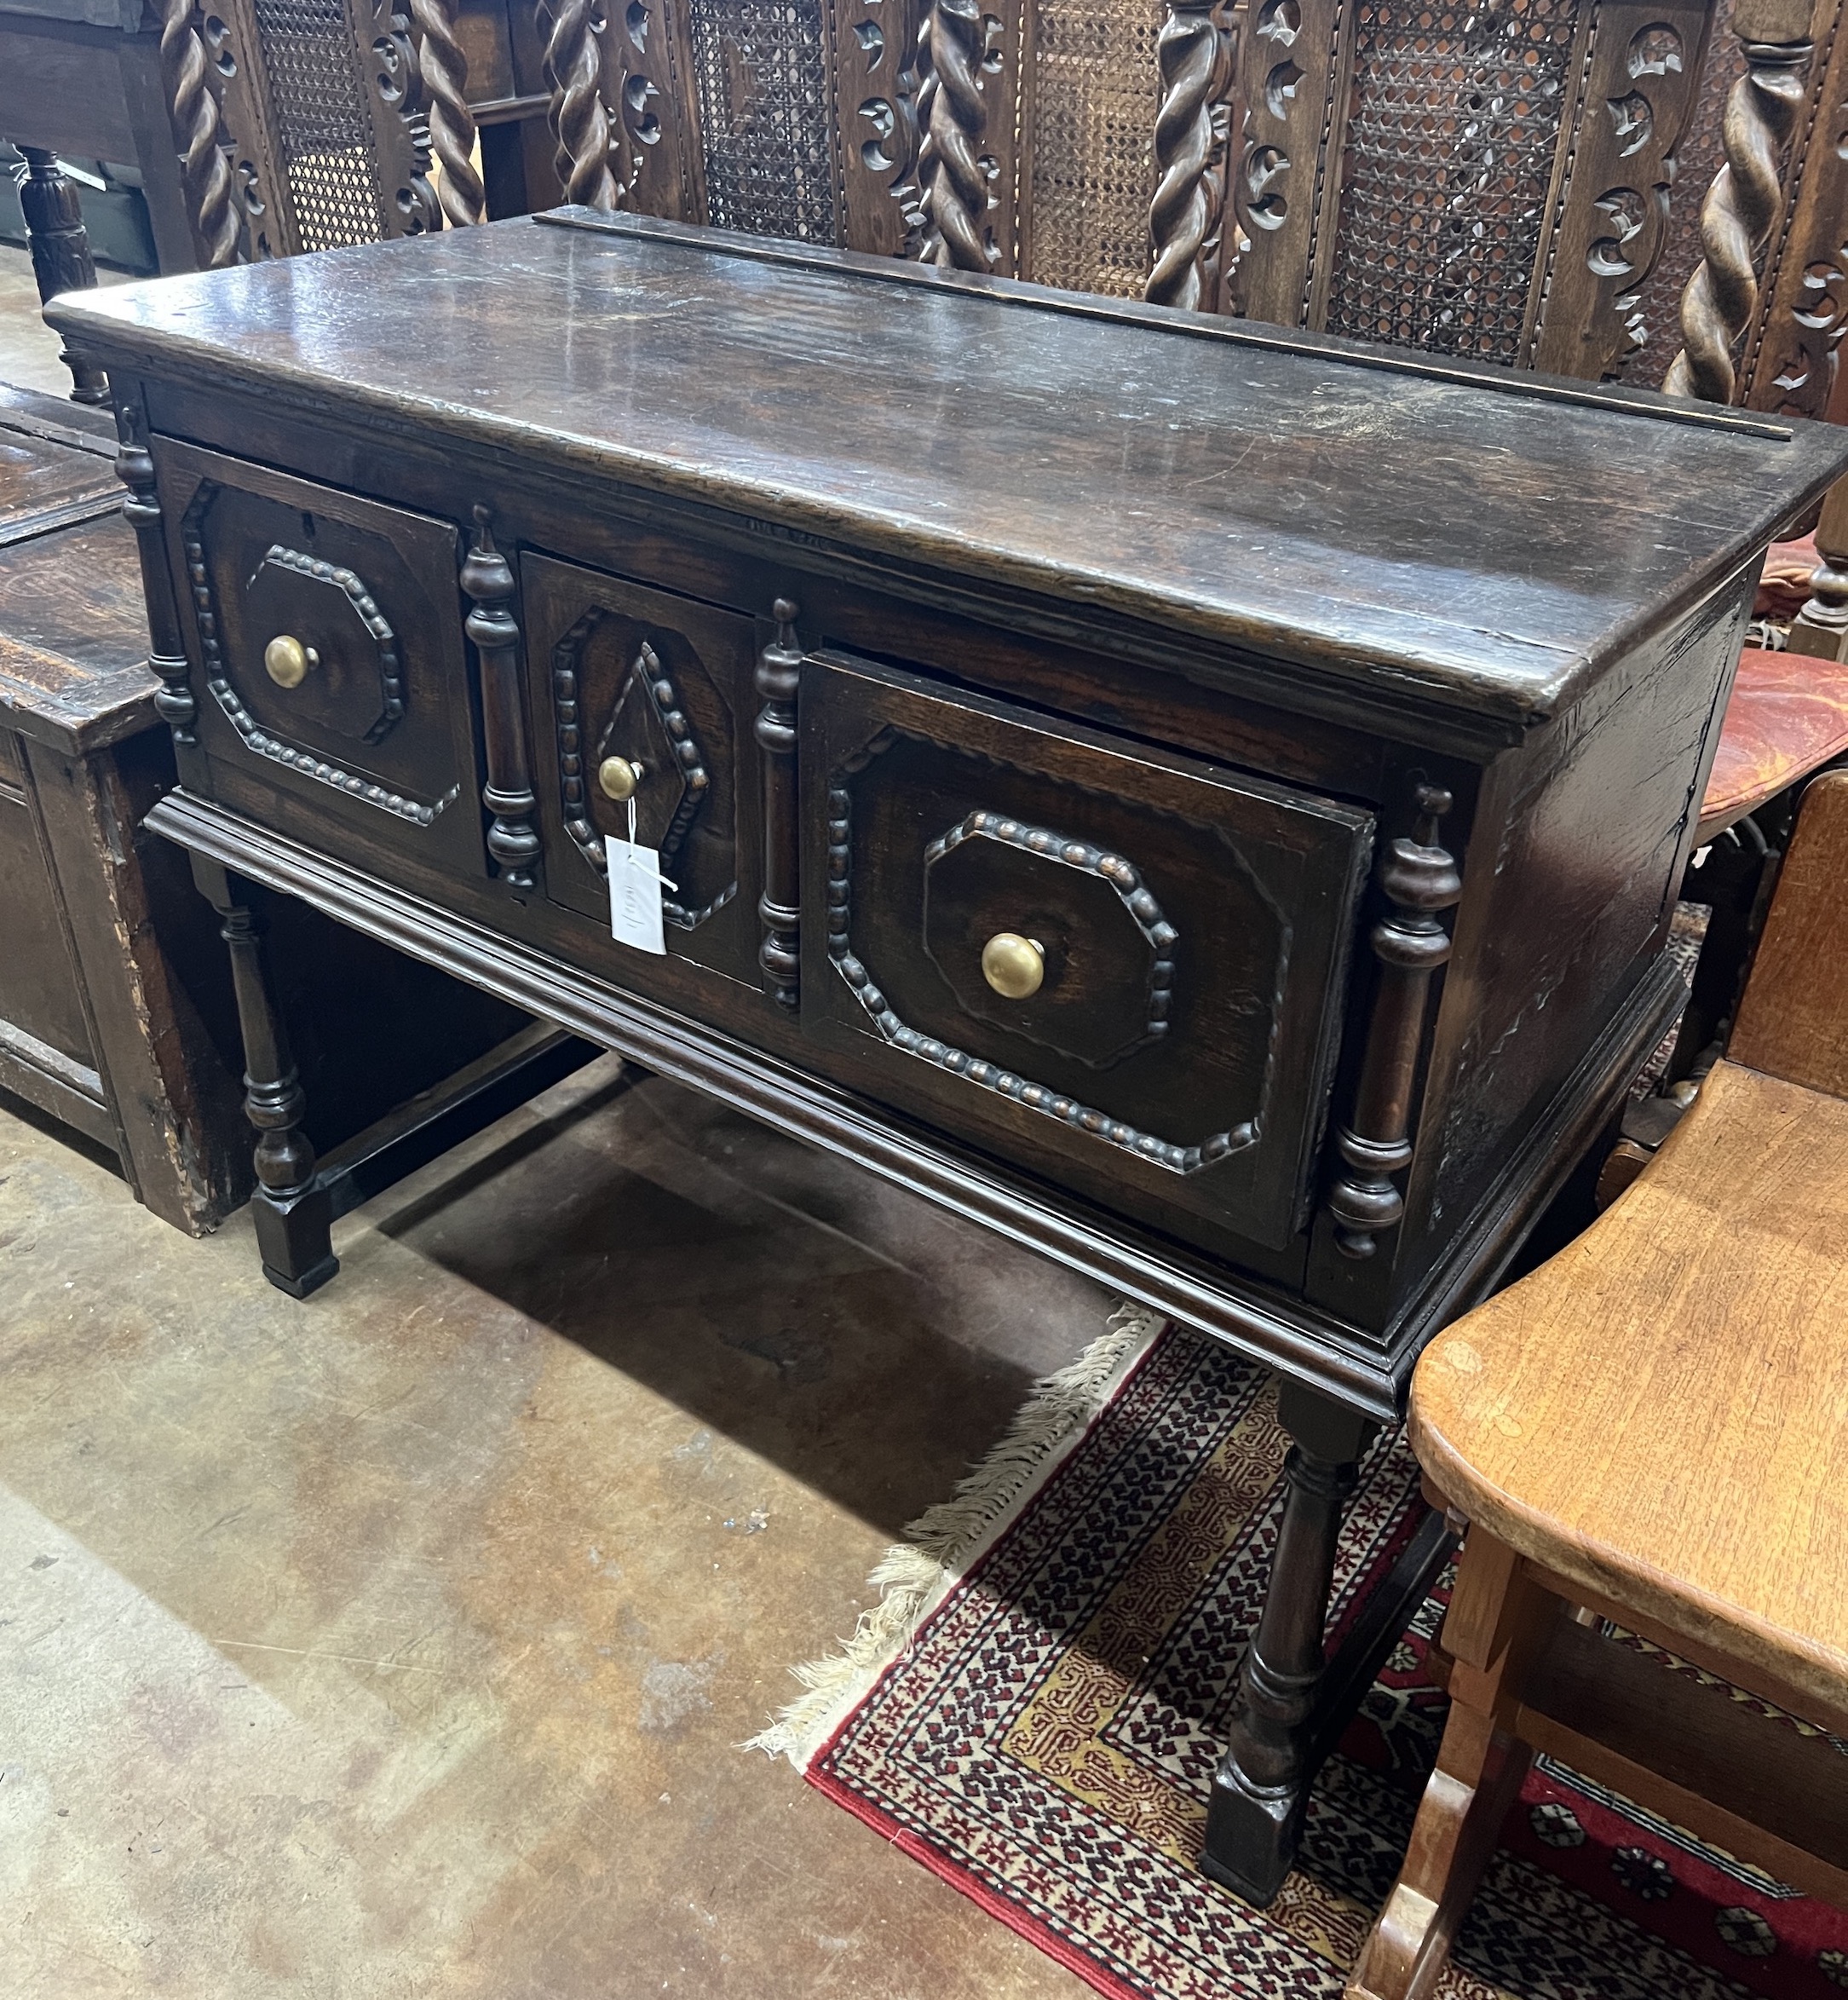
<path fill-rule="evenodd" d="M 1432 1992 L 1534 1750 L 1848 1904 L 1842 1752 L 1816 1734 L 1848 1736 L 1844 880 L 1838 772 L 1694 1110 L 1418 1366 L 1412 1444 L 1470 1522 L 1452 1710 L 1350 2000 Z"/>

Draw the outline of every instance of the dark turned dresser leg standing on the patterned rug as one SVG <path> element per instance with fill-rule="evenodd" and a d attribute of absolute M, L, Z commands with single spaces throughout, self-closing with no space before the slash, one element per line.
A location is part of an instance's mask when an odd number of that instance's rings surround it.
<path fill-rule="evenodd" d="M 1378 1424 L 1302 1388 L 1278 1384 L 1294 1444 L 1264 1610 L 1246 1654 L 1226 1758 L 1212 1782 L 1202 1870 L 1262 1908 L 1284 1886 L 1316 1776 L 1324 1630 L 1342 1502 Z"/>

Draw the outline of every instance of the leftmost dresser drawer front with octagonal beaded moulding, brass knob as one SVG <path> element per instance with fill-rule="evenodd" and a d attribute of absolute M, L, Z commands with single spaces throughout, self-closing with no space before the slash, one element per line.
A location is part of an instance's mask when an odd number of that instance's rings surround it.
<path fill-rule="evenodd" d="M 350 826 L 484 874 L 456 526 L 170 438 L 154 456 L 202 746 L 306 798 L 334 848 Z"/>

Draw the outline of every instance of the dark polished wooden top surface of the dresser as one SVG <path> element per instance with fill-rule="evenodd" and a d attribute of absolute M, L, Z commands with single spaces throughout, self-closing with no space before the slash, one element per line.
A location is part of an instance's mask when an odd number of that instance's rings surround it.
<path fill-rule="evenodd" d="M 1848 430 L 562 210 L 68 294 L 104 356 L 1540 720 Z"/>

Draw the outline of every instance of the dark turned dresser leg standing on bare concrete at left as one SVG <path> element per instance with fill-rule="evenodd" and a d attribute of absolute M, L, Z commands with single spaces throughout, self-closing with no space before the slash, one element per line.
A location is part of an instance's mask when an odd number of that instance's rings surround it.
<path fill-rule="evenodd" d="M 308 1108 L 288 1030 L 264 964 L 264 922 L 250 890 L 216 862 L 194 858 L 194 880 L 224 920 L 238 1026 L 244 1032 L 244 1116 L 256 1126 L 256 1246 L 264 1276 L 290 1298 L 306 1298 L 340 1270 L 330 1236 L 332 1198 L 314 1178 L 314 1146 L 302 1130 Z"/>

